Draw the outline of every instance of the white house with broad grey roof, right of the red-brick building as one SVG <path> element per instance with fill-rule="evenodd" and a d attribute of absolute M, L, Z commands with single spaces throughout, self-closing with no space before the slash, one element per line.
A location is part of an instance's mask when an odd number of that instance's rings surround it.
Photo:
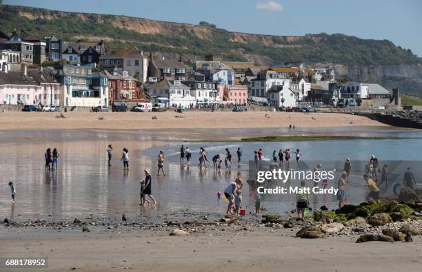
<path fill-rule="evenodd" d="M 177 107 L 190 107 L 192 103 L 196 103 L 194 96 L 196 92 L 194 90 L 190 91 L 190 87 L 174 79 L 165 78 L 146 87 L 146 90 L 152 98 L 159 99 L 161 103 L 166 103 L 168 107 L 173 107 L 173 105 L 177 105 Z M 194 94 L 193 96 L 191 92 Z M 164 101 L 165 98 L 167 101 Z"/>

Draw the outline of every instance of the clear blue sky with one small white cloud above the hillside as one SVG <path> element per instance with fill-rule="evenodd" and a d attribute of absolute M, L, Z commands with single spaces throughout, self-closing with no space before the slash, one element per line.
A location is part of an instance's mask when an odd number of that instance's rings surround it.
<path fill-rule="evenodd" d="M 343 33 L 388 39 L 422 56 L 419 0 L 3 0 L 3 4 L 178 23 L 208 21 L 217 28 L 256 34 Z"/>

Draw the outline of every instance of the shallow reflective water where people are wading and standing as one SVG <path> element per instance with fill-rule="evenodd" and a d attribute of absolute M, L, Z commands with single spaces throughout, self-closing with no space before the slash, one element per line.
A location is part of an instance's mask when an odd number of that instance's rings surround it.
<path fill-rule="evenodd" d="M 309 131 L 308 131 L 309 133 Z M 361 136 L 422 137 L 421 132 L 372 132 Z M 99 217 L 128 213 L 157 213 L 157 211 L 225 211 L 227 202 L 217 200 L 217 191 L 223 191 L 237 176 L 248 179 L 248 160 L 253 151 L 263 149 L 270 158 L 274 149 L 300 149 L 303 160 L 339 160 L 345 158 L 368 160 L 376 154 L 379 160 L 420 160 L 420 138 L 399 140 L 330 140 L 286 143 L 184 143 L 192 149 L 192 165 L 179 163 L 181 141 L 174 138 L 151 137 L 143 132 L 81 132 L 81 131 L 21 131 L 0 132 L 0 213 L 12 220 L 51 219 L 62 220 L 86 217 L 90 213 Z M 106 147 L 114 146 L 112 167 L 107 165 Z M 199 170 L 197 154 L 205 147 L 209 160 L 214 154 L 223 154 L 229 148 L 234 154 L 237 147 L 243 149 L 243 163 L 235 163 L 221 174 L 208 169 Z M 59 169 L 44 169 L 44 151 L 57 147 L 61 153 Z M 127 147 L 130 154 L 130 170 L 123 171 L 121 149 Z M 165 153 L 165 177 L 157 177 L 157 154 Z M 143 169 L 152 170 L 152 194 L 159 201 L 157 207 L 139 206 L 139 180 Z M 416 176 L 416 172 L 415 172 Z M 17 185 L 17 203 L 10 201 L 8 182 Z M 356 181 L 361 182 L 361 181 Z M 243 202 L 250 206 L 248 185 L 243 188 Z M 362 202 L 365 191 L 354 191 L 350 202 Z M 293 209 L 294 199 L 283 202 L 268 198 L 263 207 L 271 212 Z M 336 200 L 331 196 L 312 199 L 314 207 L 326 205 L 334 208 Z"/>

